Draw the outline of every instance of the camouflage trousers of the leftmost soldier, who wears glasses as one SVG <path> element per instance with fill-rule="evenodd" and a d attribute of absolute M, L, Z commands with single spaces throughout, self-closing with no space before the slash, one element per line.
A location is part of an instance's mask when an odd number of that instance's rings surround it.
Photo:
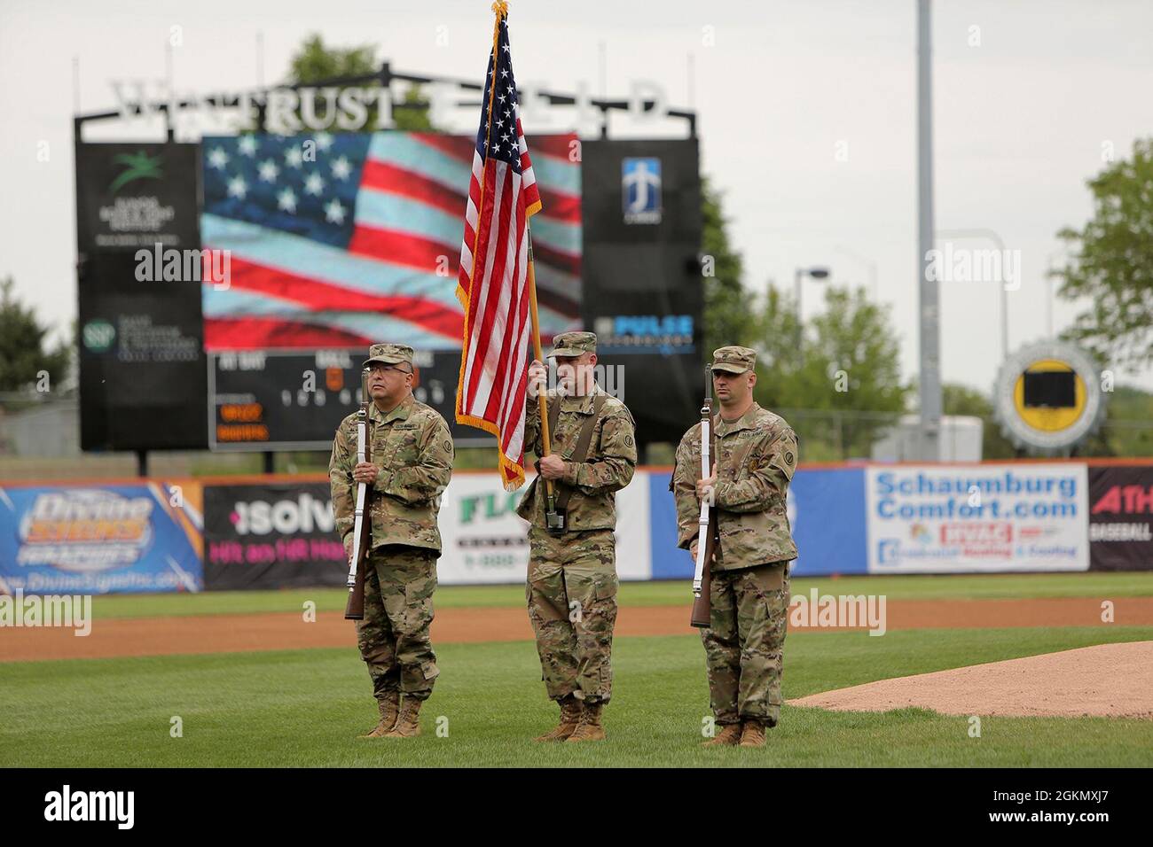
<path fill-rule="evenodd" d="M 429 638 L 436 551 L 400 544 L 377 547 L 364 577 L 364 620 L 356 621 L 356 645 L 382 699 L 399 690 L 424 699 L 440 671 Z"/>

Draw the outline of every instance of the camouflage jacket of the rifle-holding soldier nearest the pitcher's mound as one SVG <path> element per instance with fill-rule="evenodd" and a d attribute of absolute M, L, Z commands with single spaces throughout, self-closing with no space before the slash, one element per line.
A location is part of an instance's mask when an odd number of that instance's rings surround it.
<path fill-rule="evenodd" d="M 797 469 L 797 433 L 784 418 L 756 403 L 737 421 L 716 428 L 714 502 L 721 545 L 713 567 L 736 570 L 797 558 L 785 512 L 789 482 Z M 701 425 L 680 439 L 672 490 L 677 500 L 678 546 L 696 539 L 701 504 Z"/>

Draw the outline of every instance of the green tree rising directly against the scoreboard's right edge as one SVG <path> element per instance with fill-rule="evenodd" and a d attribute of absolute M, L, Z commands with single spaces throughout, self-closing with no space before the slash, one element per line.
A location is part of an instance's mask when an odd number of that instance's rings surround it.
<path fill-rule="evenodd" d="M 701 254 L 704 257 L 704 355 L 724 345 L 751 346 L 756 335 L 744 264 L 729 241 L 723 195 L 701 179 Z"/>

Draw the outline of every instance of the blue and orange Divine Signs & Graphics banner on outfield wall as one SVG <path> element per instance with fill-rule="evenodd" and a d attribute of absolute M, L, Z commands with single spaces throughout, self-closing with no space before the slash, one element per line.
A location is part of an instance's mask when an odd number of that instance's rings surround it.
<path fill-rule="evenodd" d="M 199 591 L 195 483 L 0 489 L 0 592 Z"/>

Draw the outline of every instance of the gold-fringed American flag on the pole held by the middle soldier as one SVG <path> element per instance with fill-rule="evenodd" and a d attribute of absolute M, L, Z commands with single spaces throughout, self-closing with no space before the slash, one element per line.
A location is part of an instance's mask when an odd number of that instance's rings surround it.
<path fill-rule="evenodd" d="M 520 126 L 507 6 L 497 13 L 465 207 L 457 296 L 465 307 L 457 422 L 497 437 L 505 487 L 525 482 L 528 385 L 528 219 L 541 211 L 536 174 Z"/>

